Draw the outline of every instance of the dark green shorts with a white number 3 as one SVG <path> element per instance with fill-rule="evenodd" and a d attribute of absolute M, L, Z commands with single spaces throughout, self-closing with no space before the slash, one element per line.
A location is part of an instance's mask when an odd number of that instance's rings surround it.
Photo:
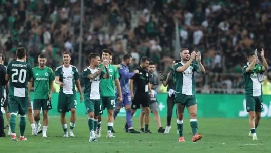
<path fill-rule="evenodd" d="M 63 92 L 59 92 L 59 103 L 57 105 L 57 111 L 59 113 L 69 112 L 71 108 L 76 109 L 76 106 L 76 94 L 65 94 Z"/>

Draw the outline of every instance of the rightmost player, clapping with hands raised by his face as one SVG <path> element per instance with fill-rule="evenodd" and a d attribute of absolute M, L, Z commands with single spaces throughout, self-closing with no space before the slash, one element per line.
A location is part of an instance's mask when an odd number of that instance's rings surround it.
<path fill-rule="evenodd" d="M 264 71 L 268 70 L 268 64 L 264 58 L 264 50 L 261 51 L 263 66 L 258 64 L 257 49 L 254 53 L 247 55 L 247 64 L 243 67 L 243 75 L 245 81 L 245 95 L 246 95 L 246 111 L 249 114 L 249 137 L 252 140 L 258 140 L 256 135 L 256 128 L 259 125 L 262 108 L 263 108 L 263 94 L 262 84 L 264 80 Z"/>

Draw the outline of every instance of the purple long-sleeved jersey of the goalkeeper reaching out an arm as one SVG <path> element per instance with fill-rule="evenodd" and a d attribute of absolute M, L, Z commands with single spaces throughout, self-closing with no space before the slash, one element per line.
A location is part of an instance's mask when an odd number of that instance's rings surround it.
<path fill-rule="evenodd" d="M 122 94 L 130 94 L 130 89 L 129 89 L 129 79 L 132 78 L 134 75 L 134 72 L 129 72 L 129 69 L 127 66 L 123 65 L 122 63 L 119 64 L 120 68 L 118 69 L 120 78 L 120 86 L 121 86 L 121 91 Z M 117 87 L 115 88 L 116 94 L 119 95 L 119 91 L 117 90 Z"/>

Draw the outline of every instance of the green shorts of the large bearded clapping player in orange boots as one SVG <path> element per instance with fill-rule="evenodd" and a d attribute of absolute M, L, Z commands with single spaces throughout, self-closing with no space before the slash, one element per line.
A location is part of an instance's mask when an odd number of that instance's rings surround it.
<path fill-rule="evenodd" d="M 186 107 L 190 107 L 192 105 L 197 104 L 197 99 L 196 99 L 196 95 L 185 95 L 185 94 L 181 94 L 181 93 L 176 93 L 174 102 L 175 102 L 175 104 L 181 103 L 182 105 L 184 105 Z"/>

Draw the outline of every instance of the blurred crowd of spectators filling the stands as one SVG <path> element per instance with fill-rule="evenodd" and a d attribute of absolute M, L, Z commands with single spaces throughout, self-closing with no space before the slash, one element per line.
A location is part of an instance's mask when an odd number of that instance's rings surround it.
<path fill-rule="evenodd" d="M 89 65 L 89 53 L 101 54 L 108 48 L 113 52 L 112 64 L 121 63 L 122 55 L 131 53 L 132 70 L 148 56 L 156 63 L 156 71 L 166 77 L 172 61 L 180 60 L 174 55 L 175 44 L 180 43 L 181 48 L 202 54 L 207 74 L 196 74 L 198 93 L 244 94 L 246 55 L 263 48 L 271 65 L 270 0 L 84 0 L 84 8 L 80 3 L 2 0 L 0 50 L 6 55 L 5 65 L 23 46 L 33 67 L 38 65 L 38 54 L 46 53 L 47 65 L 55 70 L 63 64 L 64 51 L 71 52 L 71 64 L 77 67 L 81 9 L 82 69 Z M 180 42 L 176 42 L 176 32 Z M 258 57 L 262 64 L 260 54 Z M 271 72 L 265 75 L 264 94 L 271 94 Z M 164 91 L 161 87 L 160 92 Z"/>

